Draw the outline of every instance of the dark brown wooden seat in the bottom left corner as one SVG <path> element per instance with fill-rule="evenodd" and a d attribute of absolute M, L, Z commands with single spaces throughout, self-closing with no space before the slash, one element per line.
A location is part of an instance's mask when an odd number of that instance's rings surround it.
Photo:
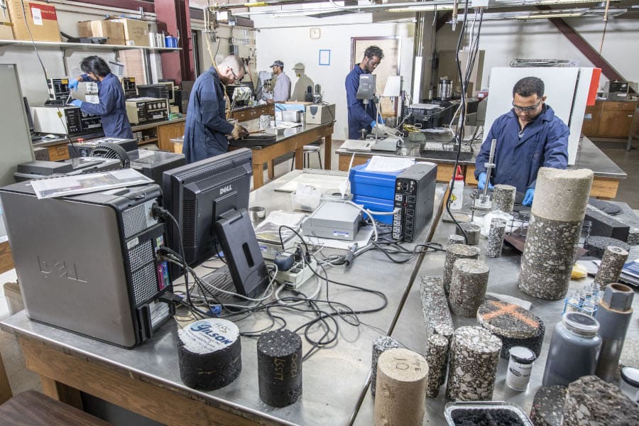
<path fill-rule="evenodd" d="M 0 426 L 108 426 L 109 423 L 36 391 L 18 393 L 0 405 Z"/>

